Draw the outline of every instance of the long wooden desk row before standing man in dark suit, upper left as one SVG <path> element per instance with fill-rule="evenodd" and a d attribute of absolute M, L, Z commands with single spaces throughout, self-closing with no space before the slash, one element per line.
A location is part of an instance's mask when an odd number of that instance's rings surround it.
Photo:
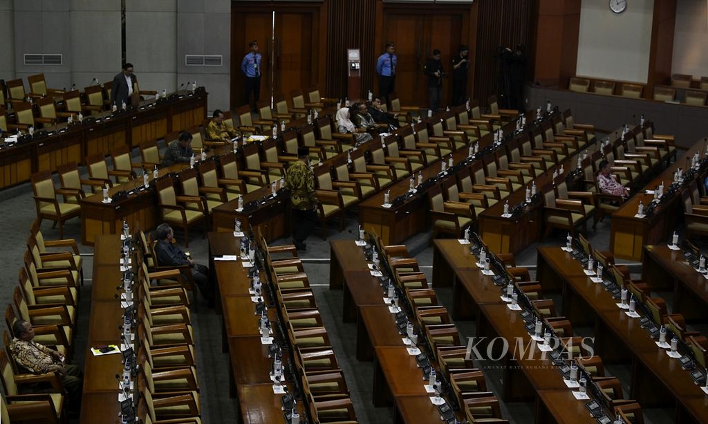
<path fill-rule="evenodd" d="M 39 171 L 57 171 L 57 166 L 121 146 L 135 147 L 164 137 L 172 131 L 200 125 L 207 116 L 207 93 L 175 101 L 146 103 L 139 110 L 91 115 L 95 122 L 49 127 L 55 134 L 0 149 L 0 188 L 30 181 Z M 93 240 L 93 239 L 91 239 Z"/>

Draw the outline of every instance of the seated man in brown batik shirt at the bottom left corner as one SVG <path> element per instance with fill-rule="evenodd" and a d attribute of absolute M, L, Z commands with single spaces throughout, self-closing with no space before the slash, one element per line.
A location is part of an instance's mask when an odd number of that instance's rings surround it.
<path fill-rule="evenodd" d="M 67 391 L 67 409 L 70 416 L 79 416 L 81 410 L 81 390 L 84 386 L 84 373 L 76 365 L 64 364 L 64 355 L 35 343 L 35 331 L 32 324 L 18 319 L 12 325 L 15 338 L 10 343 L 12 357 L 21 367 L 33 374 L 57 372 L 62 377 L 64 389 Z"/>

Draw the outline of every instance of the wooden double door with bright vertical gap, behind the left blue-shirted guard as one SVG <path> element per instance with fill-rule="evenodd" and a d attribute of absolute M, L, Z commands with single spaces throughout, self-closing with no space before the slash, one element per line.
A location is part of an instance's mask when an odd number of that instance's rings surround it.
<path fill-rule="evenodd" d="M 244 74 L 241 61 L 249 42 L 258 42 L 261 58 L 261 101 L 316 82 L 319 42 L 319 7 L 268 10 L 265 7 L 232 8 L 231 108 L 244 105 Z"/>

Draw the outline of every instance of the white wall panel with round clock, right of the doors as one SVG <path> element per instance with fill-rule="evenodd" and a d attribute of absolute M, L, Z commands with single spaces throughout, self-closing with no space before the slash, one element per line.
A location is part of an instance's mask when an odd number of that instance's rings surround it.
<path fill-rule="evenodd" d="M 630 0 L 614 13 L 607 0 L 583 0 L 576 75 L 646 84 L 653 7 L 654 0 Z"/>

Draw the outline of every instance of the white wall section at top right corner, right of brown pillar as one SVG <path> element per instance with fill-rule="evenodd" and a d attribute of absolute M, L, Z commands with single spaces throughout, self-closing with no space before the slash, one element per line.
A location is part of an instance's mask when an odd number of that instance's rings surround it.
<path fill-rule="evenodd" d="M 708 76 L 708 2 L 679 0 L 673 35 L 672 74 Z"/>

